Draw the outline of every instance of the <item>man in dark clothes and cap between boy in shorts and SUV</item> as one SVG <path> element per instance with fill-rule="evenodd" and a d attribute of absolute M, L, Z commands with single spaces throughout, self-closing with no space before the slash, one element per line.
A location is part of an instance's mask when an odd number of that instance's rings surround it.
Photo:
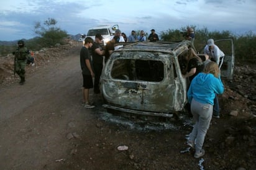
<path fill-rule="evenodd" d="M 94 94 L 99 94 L 99 78 L 101 77 L 101 71 L 103 69 L 103 56 L 105 51 L 101 46 L 103 37 L 101 34 L 95 35 L 95 41 L 91 47 L 91 53 L 93 55 L 93 69 L 94 69 Z"/>

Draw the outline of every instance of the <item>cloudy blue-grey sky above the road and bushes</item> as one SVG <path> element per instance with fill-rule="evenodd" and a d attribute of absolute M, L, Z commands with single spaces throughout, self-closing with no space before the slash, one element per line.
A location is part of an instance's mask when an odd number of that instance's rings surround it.
<path fill-rule="evenodd" d="M 95 25 L 157 34 L 194 25 L 210 31 L 256 34 L 256 0 L 6 0 L 0 2 L 0 40 L 29 39 L 35 22 L 48 18 L 68 34 L 87 34 Z"/>

